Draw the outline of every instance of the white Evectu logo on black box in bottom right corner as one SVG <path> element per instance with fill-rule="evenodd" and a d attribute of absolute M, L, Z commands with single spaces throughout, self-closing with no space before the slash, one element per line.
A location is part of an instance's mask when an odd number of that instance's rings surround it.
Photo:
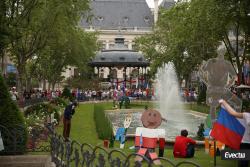
<path fill-rule="evenodd" d="M 222 150 L 223 160 L 250 160 L 250 150 Z"/>

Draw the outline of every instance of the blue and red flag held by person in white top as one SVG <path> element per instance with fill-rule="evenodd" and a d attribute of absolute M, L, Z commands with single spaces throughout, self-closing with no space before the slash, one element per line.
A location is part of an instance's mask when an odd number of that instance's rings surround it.
<path fill-rule="evenodd" d="M 244 132 L 244 126 L 221 107 L 210 135 L 233 149 L 239 149 Z"/>

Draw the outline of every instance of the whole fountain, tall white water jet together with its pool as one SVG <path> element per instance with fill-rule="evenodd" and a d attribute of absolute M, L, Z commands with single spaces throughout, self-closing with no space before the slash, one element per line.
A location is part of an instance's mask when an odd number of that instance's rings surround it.
<path fill-rule="evenodd" d="M 180 135 L 181 129 L 187 129 L 190 136 L 196 136 L 198 126 L 204 123 L 205 116 L 194 114 L 183 108 L 179 84 L 172 63 L 165 64 L 158 69 L 156 74 L 156 99 L 155 108 L 160 111 L 167 123 L 162 123 L 159 128 L 166 129 L 166 138 L 174 139 Z M 123 121 L 128 113 L 132 114 L 132 123 L 127 134 L 135 134 L 136 127 L 142 126 L 140 117 L 143 110 L 120 110 L 120 112 L 107 112 L 114 127 L 123 126 Z"/>

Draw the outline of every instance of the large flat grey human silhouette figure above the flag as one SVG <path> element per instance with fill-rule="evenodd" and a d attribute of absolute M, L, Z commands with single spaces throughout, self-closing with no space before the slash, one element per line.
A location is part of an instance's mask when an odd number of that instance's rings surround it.
<path fill-rule="evenodd" d="M 199 76 L 207 85 L 206 103 L 210 106 L 212 122 L 216 119 L 216 107 L 219 106 L 219 99 L 227 99 L 235 108 L 241 108 L 241 102 L 237 97 L 233 97 L 229 88 L 235 82 L 237 74 L 227 60 L 224 60 L 226 49 L 220 46 L 217 50 L 218 57 L 204 62 L 199 70 Z"/>

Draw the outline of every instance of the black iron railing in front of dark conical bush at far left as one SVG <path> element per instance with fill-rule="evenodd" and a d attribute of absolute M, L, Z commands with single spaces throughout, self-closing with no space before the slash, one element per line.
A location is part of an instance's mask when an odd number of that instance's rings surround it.
<path fill-rule="evenodd" d="M 0 155 L 24 154 L 26 152 L 50 152 L 50 134 L 46 126 L 33 126 L 27 129 L 23 125 L 11 128 L 0 125 Z M 3 150 L 2 150 L 3 149 Z"/>

